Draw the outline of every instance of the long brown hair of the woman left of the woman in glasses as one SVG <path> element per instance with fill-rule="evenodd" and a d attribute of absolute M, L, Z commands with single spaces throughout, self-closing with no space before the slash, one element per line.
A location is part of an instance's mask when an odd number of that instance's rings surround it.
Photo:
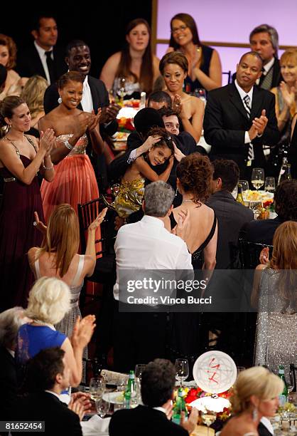
<path fill-rule="evenodd" d="M 138 26 L 139 24 L 144 24 L 149 33 L 148 46 L 146 47 L 144 56 L 142 56 L 140 77 L 137 77 L 136 74 L 132 73 L 131 71 L 131 56 L 128 42 L 126 42 L 123 50 L 121 51 L 121 59 L 119 61 L 116 76 L 132 76 L 136 82 L 139 81 L 141 90 L 146 91 L 146 93 L 150 93 L 153 88 L 153 55 L 151 53 L 151 28 L 146 20 L 135 19 L 129 22 L 125 34 L 129 35 L 131 30 L 133 30 L 134 27 Z"/>

